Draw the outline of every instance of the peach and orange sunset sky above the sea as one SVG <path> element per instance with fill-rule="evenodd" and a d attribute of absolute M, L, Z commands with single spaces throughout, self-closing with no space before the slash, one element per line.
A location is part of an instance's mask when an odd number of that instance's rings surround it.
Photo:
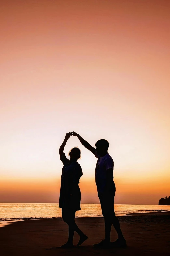
<path fill-rule="evenodd" d="M 0 202 L 58 202 L 58 149 L 109 141 L 116 204 L 170 196 L 170 1 L 3 0 Z M 76 137 L 82 203 L 96 158 Z"/>

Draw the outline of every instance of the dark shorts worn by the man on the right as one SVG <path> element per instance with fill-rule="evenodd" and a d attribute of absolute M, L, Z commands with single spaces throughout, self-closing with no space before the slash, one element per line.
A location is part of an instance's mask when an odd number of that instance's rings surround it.
<path fill-rule="evenodd" d="M 105 217 L 108 214 L 115 214 L 114 212 L 115 192 L 114 191 L 109 193 L 98 192 L 98 197 L 100 200 L 103 216 Z"/>

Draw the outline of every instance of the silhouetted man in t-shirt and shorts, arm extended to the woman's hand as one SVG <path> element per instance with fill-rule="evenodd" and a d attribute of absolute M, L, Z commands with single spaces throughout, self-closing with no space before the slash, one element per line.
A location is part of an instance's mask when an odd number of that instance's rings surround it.
<path fill-rule="evenodd" d="M 105 239 L 94 245 L 94 247 L 125 247 L 126 240 L 122 234 L 119 220 L 114 212 L 114 196 L 116 187 L 113 181 L 113 159 L 107 152 L 109 143 L 108 141 L 101 139 L 96 142 L 96 148 L 94 148 L 76 132 L 71 132 L 71 135 L 77 136 L 82 145 L 89 149 L 95 157 L 98 158 L 95 169 L 95 181 L 102 214 L 105 220 Z M 112 224 L 118 234 L 118 239 L 113 243 L 110 242 Z"/>

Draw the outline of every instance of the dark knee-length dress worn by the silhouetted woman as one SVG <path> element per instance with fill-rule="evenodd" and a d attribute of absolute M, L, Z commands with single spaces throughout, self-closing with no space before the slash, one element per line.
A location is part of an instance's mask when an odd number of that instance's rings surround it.
<path fill-rule="evenodd" d="M 60 156 L 60 160 L 64 166 L 61 175 L 59 207 L 74 211 L 81 210 L 81 192 L 78 185 L 83 175 L 81 166 L 76 161 L 70 162 L 64 153 Z"/>

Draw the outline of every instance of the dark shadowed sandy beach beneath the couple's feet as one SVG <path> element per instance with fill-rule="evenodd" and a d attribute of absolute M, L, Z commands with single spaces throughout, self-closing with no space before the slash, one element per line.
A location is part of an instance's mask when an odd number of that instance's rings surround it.
<path fill-rule="evenodd" d="M 62 219 L 12 222 L 0 228 L 0 252 L 6 255 L 159 255 L 170 256 L 170 212 L 134 214 L 119 217 L 127 240 L 126 248 L 95 249 L 93 244 L 104 238 L 101 217 L 76 218 L 89 239 L 80 247 L 58 248 L 67 240 L 68 228 Z M 117 238 L 112 228 L 111 239 Z M 78 242 L 75 235 L 74 244 Z"/>

